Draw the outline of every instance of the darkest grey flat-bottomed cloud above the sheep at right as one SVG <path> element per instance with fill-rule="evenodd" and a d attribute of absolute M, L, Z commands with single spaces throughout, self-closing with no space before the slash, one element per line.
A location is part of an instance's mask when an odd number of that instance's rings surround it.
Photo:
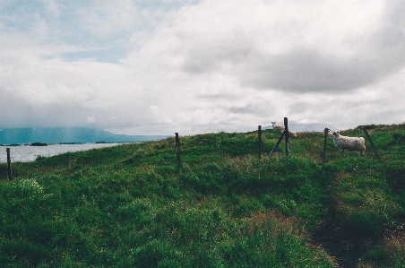
<path fill-rule="evenodd" d="M 297 48 L 278 56 L 255 55 L 247 67 L 242 66 L 241 82 L 258 89 L 350 91 L 378 82 L 404 65 L 404 56 L 398 49 L 392 55 L 379 50 L 373 51 L 375 55 L 361 55 L 349 60 L 325 57 L 308 48 Z"/>

